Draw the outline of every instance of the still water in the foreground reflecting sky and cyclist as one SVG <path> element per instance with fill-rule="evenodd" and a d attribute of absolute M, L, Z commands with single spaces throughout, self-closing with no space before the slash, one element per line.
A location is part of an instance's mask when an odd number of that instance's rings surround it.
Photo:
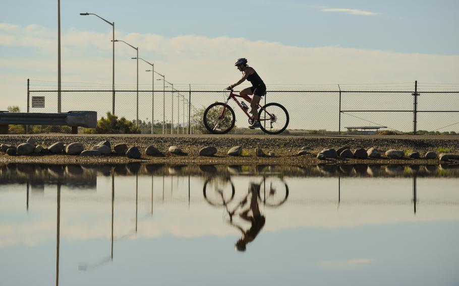
<path fill-rule="evenodd" d="M 0 285 L 457 285 L 447 166 L 0 166 Z"/>

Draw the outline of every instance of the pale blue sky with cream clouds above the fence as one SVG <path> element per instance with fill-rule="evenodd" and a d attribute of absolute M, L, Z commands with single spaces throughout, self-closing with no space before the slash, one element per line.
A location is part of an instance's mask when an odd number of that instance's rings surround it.
<path fill-rule="evenodd" d="M 0 110 L 26 81 L 57 81 L 57 2 L 2 2 Z M 176 87 L 221 90 L 239 57 L 269 86 L 412 83 L 459 87 L 457 1 L 61 1 L 62 81 L 111 88 L 112 28 Z M 135 50 L 117 43 L 117 87 L 135 87 Z M 151 85 L 140 62 L 139 84 Z M 159 82 L 155 82 L 157 84 Z M 411 85 L 411 84 L 410 84 Z M 442 87 L 441 85 L 438 85 Z"/>

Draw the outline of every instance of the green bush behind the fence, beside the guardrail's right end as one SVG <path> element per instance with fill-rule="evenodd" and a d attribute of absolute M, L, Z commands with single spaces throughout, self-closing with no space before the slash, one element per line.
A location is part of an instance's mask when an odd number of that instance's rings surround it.
<path fill-rule="evenodd" d="M 118 116 L 107 112 L 107 118 L 97 120 L 97 127 L 87 128 L 86 134 L 140 134 L 140 129 L 125 117 L 118 119 Z"/>

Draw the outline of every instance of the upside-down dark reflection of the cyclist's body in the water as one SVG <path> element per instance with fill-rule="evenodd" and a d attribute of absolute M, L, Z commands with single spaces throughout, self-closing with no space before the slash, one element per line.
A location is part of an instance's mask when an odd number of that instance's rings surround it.
<path fill-rule="evenodd" d="M 261 229 L 263 228 L 265 224 L 266 219 L 264 216 L 261 215 L 260 209 L 258 208 L 258 192 L 259 191 L 260 191 L 260 185 L 252 183 L 249 189 L 249 193 L 244 198 L 244 200 L 242 200 L 241 202 L 241 207 L 243 207 L 245 203 L 247 202 L 248 196 L 251 195 L 250 206 L 246 210 L 241 212 L 239 215 L 243 220 L 252 223 L 252 226 L 250 227 L 250 229 L 245 231 L 241 226 L 234 224 L 232 220 L 234 211 L 230 213 L 230 217 L 231 217 L 230 223 L 233 226 L 237 227 L 242 233 L 241 239 L 239 239 L 235 244 L 235 248 L 239 251 L 246 250 L 246 245 L 255 239 L 255 237 L 258 235 L 258 233 L 261 231 Z M 251 216 L 249 215 L 249 212 L 252 212 Z"/>

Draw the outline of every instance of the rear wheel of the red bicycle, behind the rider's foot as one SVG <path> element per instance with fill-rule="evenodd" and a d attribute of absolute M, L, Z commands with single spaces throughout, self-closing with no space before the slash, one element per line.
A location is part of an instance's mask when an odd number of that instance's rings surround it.
<path fill-rule="evenodd" d="M 260 129 L 268 134 L 279 134 L 289 125 L 289 113 L 278 103 L 268 103 L 258 111 Z"/>

